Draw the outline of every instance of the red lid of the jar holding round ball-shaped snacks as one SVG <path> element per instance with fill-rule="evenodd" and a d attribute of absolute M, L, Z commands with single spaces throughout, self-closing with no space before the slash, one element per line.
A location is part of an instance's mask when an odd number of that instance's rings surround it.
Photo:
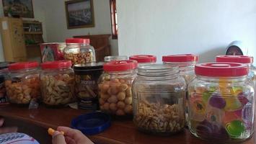
<path fill-rule="evenodd" d="M 128 71 L 136 69 L 138 63 L 136 60 L 112 60 L 103 65 L 104 71 Z"/>

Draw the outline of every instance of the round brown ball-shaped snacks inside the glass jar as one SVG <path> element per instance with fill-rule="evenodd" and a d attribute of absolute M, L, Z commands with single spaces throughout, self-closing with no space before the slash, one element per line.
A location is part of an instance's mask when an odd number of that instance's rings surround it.
<path fill-rule="evenodd" d="M 100 109 L 116 115 L 132 114 L 131 79 L 114 78 L 99 84 Z"/>

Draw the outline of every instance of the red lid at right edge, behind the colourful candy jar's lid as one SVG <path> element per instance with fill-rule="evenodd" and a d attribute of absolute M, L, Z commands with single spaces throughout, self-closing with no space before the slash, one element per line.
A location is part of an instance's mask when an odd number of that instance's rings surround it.
<path fill-rule="evenodd" d="M 217 55 L 216 62 L 253 63 L 253 57 L 245 55 Z"/>

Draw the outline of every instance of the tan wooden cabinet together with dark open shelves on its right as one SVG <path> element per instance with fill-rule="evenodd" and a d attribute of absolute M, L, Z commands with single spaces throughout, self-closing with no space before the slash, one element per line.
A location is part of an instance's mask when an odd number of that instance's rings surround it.
<path fill-rule="evenodd" d="M 43 43 L 41 22 L 3 17 L 0 27 L 6 61 L 40 60 L 39 44 Z"/>

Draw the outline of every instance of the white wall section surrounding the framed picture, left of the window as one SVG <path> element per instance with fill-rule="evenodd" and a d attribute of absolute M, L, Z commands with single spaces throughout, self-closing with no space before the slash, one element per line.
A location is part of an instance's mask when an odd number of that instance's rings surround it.
<path fill-rule="evenodd" d="M 100 35 L 111 34 L 110 1 L 94 0 L 95 27 L 67 29 L 65 0 L 46 0 L 45 23 L 48 42 L 64 42 L 68 37 L 74 35 Z M 118 55 L 118 40 L 110 37 L 112 54 Z"/>

